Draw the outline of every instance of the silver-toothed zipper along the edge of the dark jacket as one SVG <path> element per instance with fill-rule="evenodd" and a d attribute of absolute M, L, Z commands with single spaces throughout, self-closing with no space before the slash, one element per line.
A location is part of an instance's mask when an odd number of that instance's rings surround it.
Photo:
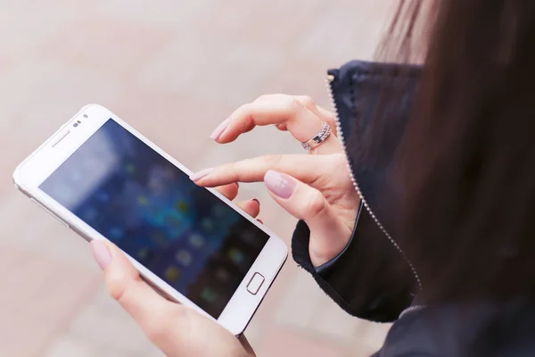
<path fill-rule="evenodd" d="M 333 80 L 334 80 L 334 76 L 333 75 L 328 75 L 327 79 L 325 79 L 325 84 L 326 84 L 326 87 L 327 87 L 327 91 L 329 92 L 329 99 L 331 100 L 331 105 L 333 106 L 334 114 L 335 114 L 335 117 L 336 117 L 336 134 L 337 134 L 338 138 L 340 139 L 340 142 L 342 143 L 343 151 L 346 154 L 346 166 L 347 166 L 348 170 L 350 171 L 350 178 L 351 178 L 351 181 L 353 182 L 353 187 L 355 187 L 355 189 L 357 190 L 357 193 L 360 196 L 360 200 L 364 204 L 364 207 L 366 207 L 366 211 L 370 214 L 370 216 L 372 216 L 372 218 L 374 219 L 375 223 L 377 223 L 377 226 L 381 229 L 381 231 L 383 231 L 384 235 L 388 238 L 388 240 L 391 242 L 391 244 L 396 247 L 396 249 L 399 251 L 399 253 L 401 253 L 403 258 L 407 262 L 407 264 L 410 267 L 410 270 L 413 272 L 413 275 L 416 278 L 416 282 L 417 282 L 417 284 L 418 284 L 418 286 L 420 287 L 420 290 L 421 290 L 422 289 L 422 282 L 420 281 L 420 277 L 418 276 L 418 273 L 416 272 L 415 267 L 408 260 L 407 255 L 403 252 L 401 247 L 394 241 L 394 239 L 391 237 L 391 235 L 386 231 L 386 229 L 384 228 L 383 224 L 381 224 L 381 222 L 377 219 L 377 217 L 375 216 L 374 212 L 372 212 L 372 209 L 370 208 L 370 206 L 366 202 L 366 198 L 364 197 L 364 195 L 362 194 L 362 191 L 360 190 L 360 187 L 358 186 L 358 182 L 355 179 L 355 175 L 353 175 L 353 170 L 351 169 L 350 161 L 349 161 L 348 154 L 347 154 L 347 146 L 346 146 L 345 140 L 343 138 L 342 124 L 340 123 L 340 116 L 338 115 L 338 108 L 336 106 L 336 102 L 334 101 L 333 85 L 332 85 Z M 411 306 L 411 308 L 413 308 L 413 310 L 417 310 L 416 307 L 419 307 L 419 306 L 420 305 L 415 305 L 415 306 Z M 409 308 L 409 309 L 411 309 L 411 308 Z M 404 312 L 402 312 L 401 314 L 403 314 Z"/>

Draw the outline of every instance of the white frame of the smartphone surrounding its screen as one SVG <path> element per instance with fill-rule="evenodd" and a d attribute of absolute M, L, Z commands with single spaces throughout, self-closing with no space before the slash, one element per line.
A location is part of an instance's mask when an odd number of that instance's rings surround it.
<path fill-rule="evenodd" d="M 39 146 L 33 154 L 17 167 L 13 173 L 13 181 L 24 194 L 29 195 L 29 197 L 33 198 L 37 203 L 43 205 L 45 210 L 53 213 L 53 215 L 62 220 L 87 241 L 106 238 L 63 207 L 62 204 L 53 200 L 51 196 L 46 195 L 39 186 L 109 119 L 115 120 L 124 129 L 127 129 L 134 136 L 142 140 L 144 144 L 149 145 L 155 152 L 161 154 L 165 159 L 177 166 L 178 169 L 183 170 L 188 175 L 191 175 L 192 173 L 191 170 L 185 168 L 184 165 L 165 153 L 159 146 L 154 145 L 148 138 L 144 137 L 136 129 L 130 127 L 125 121 L 120 120 L 117 115 L 113 114 L 103 106 L 90 104 L 82 108 L 73 118 L 63 124 L 62 128 L 54 133 L 52 137 L 46 140 L 43 145 Z M 78 120 L 81 121 L 81 124 L 74 128 L 73 125 Z M 60 140 L 59 143 L 57 142 L 58 140 Z M 276 278 L 276 274 L 281 270 L 287 258 L 288 249 L 282 239 L 276 237 L 276 235 L 268 228 L 260 224 L 257 220 L 251 218 L 247 213 L 243 212 L 243 210 L 235 205 L 235 203 L 228 200 L 224 195 L 221 195 L 217 190 L 212 188 L 208 189 L 213 195 L 216 195 L 221 201 L 231 206 L 236 212 L 242 214 L 243 217 L 250 220 L 252 224 L 269 235 L 268 243 L 259 253 L 259 256 L 252 264 L 251 269 L 247 272 L 240 286 L 238 286 L 234 295 L 226 304 L 224 311 L 217 320 L 219 324 L 238 336 L 242 334 L 243 330 L 247 327 L 254 312 L 257 310 L 259 303 L 261 303 L 264 295 L 267 294 L 269 286 L 271 286 L 273 280 Z M 140 271 L 145 279 L 148 279 L 153 285 L 161 290 L 161 293 L 168 295 L 169 298 L 178 303 L 184 303 L 185 305 L 190 306 L 211 320 L 216 320 L 185 297 L 185 295 L 180 294 L 161 278 L 153 274 L 152 271 L 146 269 L 134 258 L 128 256 L 128 259 L 134 264 L 136 269 Z M 259 292 L 256 295 L 251 295 L 251 293 L 247 291 L 247 284 L 255 272 L 259 272 L 265 278 L 265 281 L 262 286 L 260 286 Z"/>

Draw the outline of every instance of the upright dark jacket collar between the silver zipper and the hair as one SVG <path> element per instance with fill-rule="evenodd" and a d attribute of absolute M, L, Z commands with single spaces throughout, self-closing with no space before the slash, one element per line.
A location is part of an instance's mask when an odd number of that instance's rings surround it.
<path fill-rule="evenodd" d="M 352 61 L 328 71 L 350 173 L 366 208 L 395 230 L 402 192 L 393 178 L 395 154 L 407 126 L 422 68 Z"/>

